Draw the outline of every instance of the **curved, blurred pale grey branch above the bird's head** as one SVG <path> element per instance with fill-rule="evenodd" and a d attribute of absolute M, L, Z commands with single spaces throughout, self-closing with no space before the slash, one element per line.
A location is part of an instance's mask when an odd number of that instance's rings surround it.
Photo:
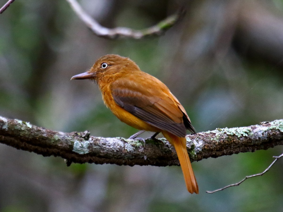
<path fill-rule="evenodd" d="M 178 20 L 180 20 L 184 14 L 185 10 L 181 9 L 177 14 L 167 17 L 166 19 L 160 21 L 155 26 L 149 27 L 143 30 L 134 30 L 126 27 L 116 27 L 114 29 L 108 29 L 101 26 L 97 21 L 95 21 L 91 16 L 89 16 L 79 5 L 76 0 L 67 0 L 72 9 L 76 12 L 77 16 L 89 27 L 93 33 L 97 36 L 118 39 L 118 38 L 134 38 L 141 39 L 147 36 L 159 36 L 164 31 L 172 27 Z"/>

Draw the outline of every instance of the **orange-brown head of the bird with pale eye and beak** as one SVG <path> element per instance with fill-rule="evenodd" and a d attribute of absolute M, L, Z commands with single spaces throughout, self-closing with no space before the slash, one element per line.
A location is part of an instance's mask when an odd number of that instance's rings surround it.
<path fill-rule="evenodd" d="M 75 75 L 72 79 L 90 79 L 99 83 L 102 79 L 119 78 L 121 73 L 140 71 L 136 63 L 128 57 L 119 55 L 105 55 L 100 57 L 86 72 Z"/>

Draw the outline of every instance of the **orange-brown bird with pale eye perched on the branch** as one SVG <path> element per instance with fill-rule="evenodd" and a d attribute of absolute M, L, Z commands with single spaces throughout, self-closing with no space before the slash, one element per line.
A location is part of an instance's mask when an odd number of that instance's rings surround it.
<path fill-rule="evenodd" d="M 128 57 L 105 55 L 72 79 L 95 81 L 106 107 L 122 122 L 143 131 L 162 133 L 175 148 L 186 188 L 198 194 L 198 184 L 186 149 L 186 129 L 196 134 L 190 118 L 169 88 L 140 70 Z"/>

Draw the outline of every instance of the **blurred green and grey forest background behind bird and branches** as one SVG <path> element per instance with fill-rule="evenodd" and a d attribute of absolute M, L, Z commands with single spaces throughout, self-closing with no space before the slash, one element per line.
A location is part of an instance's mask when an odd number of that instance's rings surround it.
<path fill-rule="evenodd" d="M 4 5 L 6 0 L 1 0 Z M 283 118 L 282 0 L 83 0 L 105 27 L 143 29 L 186 15 L 143 40 L 95 36 L 65 0 L 17 0 L 0 15 L 0 115 L 55 131 L 129 137 L 136 129 L 103 104 L 97 85 L 70 78 L 105 54 L 130 57 L 163 81 L 197 132 Z M 149 137 L 151 133 L 144 133 Z M 0 144 L 0 211 L 282 211 L 282 146 L 192 164 L 200 194 L 180 167 L 72 164 Z"/>

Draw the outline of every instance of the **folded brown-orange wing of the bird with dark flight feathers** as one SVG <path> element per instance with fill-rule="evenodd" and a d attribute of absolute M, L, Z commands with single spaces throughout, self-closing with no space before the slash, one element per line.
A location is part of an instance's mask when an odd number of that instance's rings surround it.
<path fill-rule="evenodd" d="M 110 89 L 114 101 L 129 113 L 161 130 L 185 137 L 184 114 L 170 90 L 155 77 L 119 79 Z"/>

